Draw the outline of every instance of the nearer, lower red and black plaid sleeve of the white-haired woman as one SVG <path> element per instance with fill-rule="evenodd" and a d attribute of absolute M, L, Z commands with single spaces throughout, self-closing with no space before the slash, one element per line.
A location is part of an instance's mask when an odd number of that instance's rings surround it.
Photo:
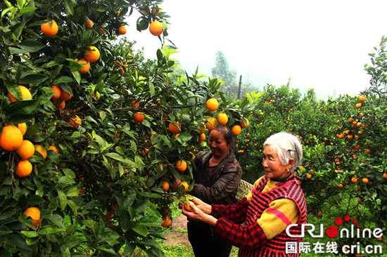
<path fill-rule="evenodd" d="M 267 242 L 265 233 L 258 223 L 242 226 L 221 217 L 215 225 L 215 233 L 229 244 L 241 249 L 257 249 Z"/>

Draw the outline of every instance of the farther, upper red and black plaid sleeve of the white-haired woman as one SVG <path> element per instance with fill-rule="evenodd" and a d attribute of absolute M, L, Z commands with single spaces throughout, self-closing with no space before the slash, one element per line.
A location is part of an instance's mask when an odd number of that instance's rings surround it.
<path fill-rule="evenodd" d="M 248 202 L 246 197 L 241 199 L 241 201 L 236 204 L 231 205 L 220 205 L 220 204 L 212 204 L 211 216 L 215 218 L 224 217 L 227 220 L 231 220 L 236 224 L 241 224 L 245 222 L 246 212 L 248 208 Z"/>

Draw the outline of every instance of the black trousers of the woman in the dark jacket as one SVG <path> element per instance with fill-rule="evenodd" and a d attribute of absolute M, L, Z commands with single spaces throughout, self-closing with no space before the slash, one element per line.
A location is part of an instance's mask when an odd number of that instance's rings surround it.
<path fill-rule="evenodd" d="M 232 245 L 214 235 L 210 225 L 189 221 L 187 229 L 196 257 L 229 257 Z"/>

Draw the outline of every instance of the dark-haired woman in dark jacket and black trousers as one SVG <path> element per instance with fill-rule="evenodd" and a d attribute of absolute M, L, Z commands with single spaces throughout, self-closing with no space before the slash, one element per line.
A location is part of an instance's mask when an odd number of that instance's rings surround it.
<path fill-rule="evenodd" d="M 225 126 L 210 131 L 210 152 L 198 152 L 194 159 L 195 185 L 189 192 L 208 204 L 235 204 L 241 182 L 242 168 L 236 161 L 231 145 L 234 135 Z M 196 257 L 229 256 L 231 244 L 214 235 L 210 225 L 189 220 L 188 237 Z"/>

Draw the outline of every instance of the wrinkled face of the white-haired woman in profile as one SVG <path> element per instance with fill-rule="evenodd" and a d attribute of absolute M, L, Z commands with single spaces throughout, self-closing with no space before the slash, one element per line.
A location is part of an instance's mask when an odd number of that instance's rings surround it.
<path fill-rule="evenodd" d="M 262 164 L 267 178 L 285 178 L 290 174 L 290 171 L 287 171 L 289 164 L 282 164 L 277 153 L 270 149 L 270 145 L 266 145 L 263 150 Z"/>

